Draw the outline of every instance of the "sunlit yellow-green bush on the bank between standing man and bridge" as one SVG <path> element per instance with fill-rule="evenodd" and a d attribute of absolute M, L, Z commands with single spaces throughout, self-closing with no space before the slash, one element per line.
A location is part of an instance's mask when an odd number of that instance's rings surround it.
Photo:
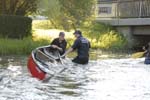
<path fill-rule="evenodd" d="M 101 49 L 122 49 L 126 45 L 126 40 L 122 35 L 115 31 L 110 31 L 102 34 L 99 39 L 92 39 L 93 48 Z"/>

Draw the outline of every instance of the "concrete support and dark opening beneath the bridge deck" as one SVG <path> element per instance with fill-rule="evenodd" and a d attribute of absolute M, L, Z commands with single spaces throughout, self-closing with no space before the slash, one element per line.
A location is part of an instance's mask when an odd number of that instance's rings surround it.
<path fill-rule="evenodd" d="M 150 26 L 115 26 L 128 41 L 128 48 L 142 49 L 150 41 Z"/>

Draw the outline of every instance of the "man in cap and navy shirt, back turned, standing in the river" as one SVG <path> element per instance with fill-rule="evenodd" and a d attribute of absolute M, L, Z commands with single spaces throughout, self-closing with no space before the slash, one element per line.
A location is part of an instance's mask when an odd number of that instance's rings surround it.
<path fill-rule="evenodd" d="M 72 62 L 78 63 L 78 64 L 87 64 L 89 61 L 89 48 L 90 48 L 90 42 L 82 36 L 82 33 L 80 30 L 76 30 L 74 32 L 74 35 L 76 37 L 76 40 L 74 41 L 74 44 L 72 47 L 66 51 L 66 53 L 63 55 L 67 55 L 68 53 L 74 51 L 77 49 L 77 57 L 75 57 Z"/>

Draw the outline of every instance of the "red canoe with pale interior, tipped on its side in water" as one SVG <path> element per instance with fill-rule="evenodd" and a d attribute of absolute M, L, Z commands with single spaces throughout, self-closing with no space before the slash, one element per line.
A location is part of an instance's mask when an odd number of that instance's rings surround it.
<path fill-rule="evenodd" d="M 29 56 L 27 63 L 28 70 L 33 77 L 43 80 L 46 74 L 54 74 L 50 71 L 50 66 L 46 62 L 54 63 L 57 62 L 59 58 L 59 53 L 52 53 L 50 46 L 39 47 L 33 50 Z"/>

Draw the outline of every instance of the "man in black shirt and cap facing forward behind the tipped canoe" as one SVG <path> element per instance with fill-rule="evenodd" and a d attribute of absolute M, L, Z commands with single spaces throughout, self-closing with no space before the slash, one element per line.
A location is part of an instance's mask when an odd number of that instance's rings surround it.
<path fill-rule="evenodd" d="M 51 47 L 53 48 L 53 50 L 58 50 L 60 55 L 63 55 L 65 53 L 66 46 L 67 46 L 67 42 L 64 37 L 65 37 L 65 33 L 60 32 L 59 37 L 54 39 L 51 42 Z"/>

